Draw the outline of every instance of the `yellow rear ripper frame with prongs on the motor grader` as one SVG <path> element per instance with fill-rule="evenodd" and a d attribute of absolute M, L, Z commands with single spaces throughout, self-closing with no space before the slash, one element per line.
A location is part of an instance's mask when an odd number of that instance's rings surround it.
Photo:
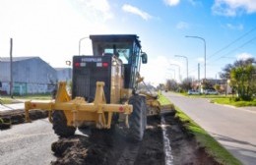
<path fill-rule="evenodd" d="M 122 113 L 125 115 L 125 125 L 129 127 L 128 115 L 132 113 L 133 106 L 127 103 L 106 104 L 103 86 L 103 82 L 96 83 L 95 101 L 88 103 L 83 97 L 71 99 L 66 90 L 66 83 L 59 83 L 55 101 L 25 103 L 26 121 L 31 122 L 29 111 L 32 109 L 49 111 L 50 122 L 52 122 L 52 111 L 62 110 L 67 119 L 67 126 L 79 127 L 85 122 L 93 122 L 98 129 L 110 129 L 113 113 Z"/>

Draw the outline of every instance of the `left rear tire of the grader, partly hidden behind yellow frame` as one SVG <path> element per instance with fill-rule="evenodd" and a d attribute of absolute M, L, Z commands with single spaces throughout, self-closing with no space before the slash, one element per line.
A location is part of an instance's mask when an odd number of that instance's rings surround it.
<path fill-rule="evenodd" d="M 52 113 L 52 129 L 60 138 L 68 138 L 74 136 L 75 127 L 67 126 L 67 119 L 63 111 L 54 110 Z"/>

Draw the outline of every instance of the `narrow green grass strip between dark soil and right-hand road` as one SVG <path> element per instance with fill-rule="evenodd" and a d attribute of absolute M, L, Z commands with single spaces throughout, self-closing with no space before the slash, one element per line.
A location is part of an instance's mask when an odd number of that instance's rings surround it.
<path fill-rule="evenodd" d="M 215 138 L 212 138 L 205 130 L 198 126 L 186 114 L 177 107 L 176 116 L 183 123 L 185 129 L 195 136 L 199 145 L 215 158 L 217 162 L 224 165 L 241 165 L 242 163 L 233 157 Z"/>

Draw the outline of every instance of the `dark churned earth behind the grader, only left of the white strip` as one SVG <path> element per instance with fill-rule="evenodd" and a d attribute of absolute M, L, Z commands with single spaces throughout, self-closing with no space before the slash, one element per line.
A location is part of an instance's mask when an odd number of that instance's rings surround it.
<path fill-rule="evenodd" d="M 51 164 L 164 164 L 161 139 L 160 126 L 155 120 L 148 120 L 142 142 L 125 138 L 118 129 L 92 130 L 90 137 L 60 138 L 52 143 L 57 160 Z"/>

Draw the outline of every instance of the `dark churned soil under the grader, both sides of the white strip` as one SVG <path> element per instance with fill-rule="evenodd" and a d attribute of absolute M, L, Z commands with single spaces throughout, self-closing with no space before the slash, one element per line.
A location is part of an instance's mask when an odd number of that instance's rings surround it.
<path fill-rule="evenodd" d="M 198 146 L 192 135 L 186 133 L 174 115 L 164 116 L 166 137 L 169 140 L 168 164 L 215 165 L 204 148 Z M 52 165 L 164 165 L 166 152 L 160 117 L 148 118 L 148 126 L 141 142 L 130 141 L 118 129 L 92 130 L 91 136 L 76 135 L 60 138 L 52 143 L 57 157 Z"/>

